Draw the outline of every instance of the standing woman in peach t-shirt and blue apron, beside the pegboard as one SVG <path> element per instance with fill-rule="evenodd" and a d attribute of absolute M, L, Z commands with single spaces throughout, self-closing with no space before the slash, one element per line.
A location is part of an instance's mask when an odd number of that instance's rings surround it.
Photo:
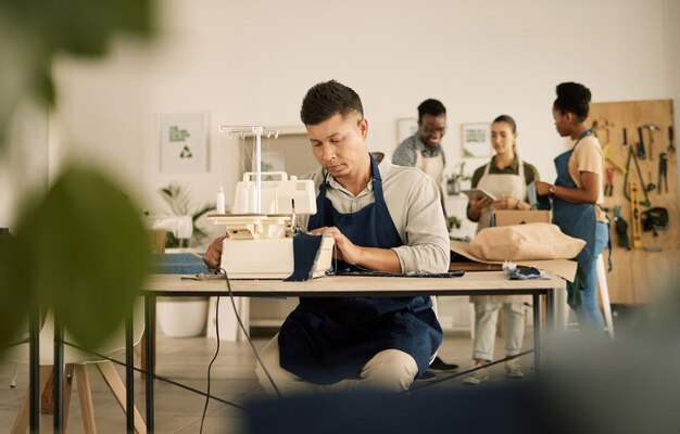
<path fill-rule="evenodd" d="M 590 99 L 590 90 L 582 85 L 557 86 L 553 105 L 555 127 L 559 136 L 570 137 L 576 143 L 555 158 L 555 184 L 537 182 L 537 193 L 552 197 L 553 222 L 564 233 L 585 241 L 585 247 L 576 257 L 576 279 L 567 284 L 567 303 L 581 329 L 602 331 L 604 320 L 597 306 L 596 260 L 607 246 L 609 229 L 606 215 L 597 205 L 604 201 L 602 149 L 593 131 L 584 125 Z"/>

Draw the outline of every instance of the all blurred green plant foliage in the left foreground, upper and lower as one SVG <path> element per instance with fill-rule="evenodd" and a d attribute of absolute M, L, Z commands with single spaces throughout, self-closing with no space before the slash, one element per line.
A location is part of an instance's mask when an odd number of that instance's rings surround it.
<path fill-rule="evenodd" d="M 149 37 L 152 16 L 151 0 L 0 0 L 0 157 L 21 104 L 58 110 L 55 58 L 103 56 L 122 33 Z M 142 288 L 150 246 L 138 207 L 97 169 L 60 173 L 46 194 L 25 199 L 15 237 L 0 240 L 0 352 L 37 305 L 61 315 L 79 344 L 96 345 Z"/>

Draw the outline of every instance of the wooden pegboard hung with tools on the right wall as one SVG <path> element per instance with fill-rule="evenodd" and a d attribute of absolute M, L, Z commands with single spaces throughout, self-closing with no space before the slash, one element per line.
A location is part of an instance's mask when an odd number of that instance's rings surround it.
<path fill-rule="evenodd" d="M 671 149 L 671 143 L 677 146 L 672 137 L 672 100 L 592 103 L 589 122 L 605 153 L 605 187 L 607 168 L 612 173 L 612 193 L 605 194 L 604 208 L 614 220 L 614 212 L 618 207 L 628 224 L 630 250 L 619 246 L 619 235 L 613 221 L 614 268 L 607 275 L 609 296 L 612 303 L 645 303 L 659 289 L 659 278 L 680 266 L 678 163 Z M 640 148 L 640 142 L 643 148 Z M 666 175 L 662 173 L 659 177 L 659 168 L 663 169 L 664 165 L 662 158 L 666 159 Z M 668 212 L 666 229 L 656 227 L 655 230 L 633 232 L 635 217 L 630 181 L 637 184 L 637 194 L 633 195 L 638 202 L 640 224 L 643 212 L 663 207 Z M 657 217 L 660 214 L 655 213 Z M 662 220 L 657 218 L 655 221 Z"/>

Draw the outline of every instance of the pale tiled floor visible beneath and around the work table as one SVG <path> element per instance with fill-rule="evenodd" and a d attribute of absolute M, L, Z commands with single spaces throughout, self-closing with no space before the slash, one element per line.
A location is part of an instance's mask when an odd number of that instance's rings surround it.
<path fill-rule="evenodd" d="M 264 346 L 268 335 L 257 336 L 257 348 Z M 525 347 L 531 346 L 531 331 L 526 334 Z M 503 340 L 496 340 L 496 355 L 503 355 Z M 207 365 L 214 356 L 215 341 L 205 337 L 169 339 L 163 335 L 158 337 L 158 374 L 171 378 L 197 390 L 205 391 Z M 471 341 L 468 334 L 448 333 L 440 355 L 448 362 L 462 367 L 470 363 Z M 121 355 L 119 359 L 123 358 Z M 531 356 L 522 358 L 525 371 L 530 374 Z M 243 404 L 248 399 L 265 396 L 263 388 L 257 384 L 254 372 L 254 356 L 248 343 L 223 342 L 219 356 L 212 369 L 211 393 L 235 404 Z M 138 361 L 137 361 L 138 362 Z M 490 381 L 505 381 L 503 367 L 494 367 Z M 16 411 L 28 385 L 28 369 L 25 365 L 18 366 L 18 375 L 15 388 L 10 388 L 10 381 L 14 363 L 0 362 L 0 433 L 9 433 Z M 125 378 L 123 368 L 118 368 L 122 378 Z M 89 367 L 89 376 L 92 388 L 92 400 L 98 432 L 102 434 L 118 434 L 125 432 L 125 417 L 109 392 L 104 381 L 95 367 Z M 470 387 L 455 379 L 436 387 Z M 144 416 L 143 383 L 136 379 L 136 400 L 142 417 Z M 474 387 L 474 386 L 473 386 Z M 74 386 L 75 388 L 75 386 Z M 155 427 L 158 433 L 199 433 L 201 414 L 205 399 L 197 394 L 179 388 L 175 385 L 158 382 L 155 386 Z M 226 404 L 211 401 L 204 420 L 203 433 L 238 433 L 243 432 L 241 426 L 242 410 Z M 52 432 L 51 416 L 41 418 L 41 432 Z M 76 392 L 74 391 L 68 417 L 68 433 L 81 433 L 83 423 Z"/>

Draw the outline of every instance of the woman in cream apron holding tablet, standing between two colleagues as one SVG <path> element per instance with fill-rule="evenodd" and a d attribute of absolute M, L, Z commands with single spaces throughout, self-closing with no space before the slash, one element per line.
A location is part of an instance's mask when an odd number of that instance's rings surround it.
<path fill-rule="evenodd" d="M 491 144 L 495 155 L 491 162 L 479 167 L 473 175 L 473 188 L 481 188 L 494 196 L 470 199 L 467 217 L 477 221 L 477 231 L 490 226 L 494 209 L 529 209 L 525 201 L 527 184 L 539 180 L 536 167 L 522 162 L 517 155 L 517 127 L 507 115 L 496 117 L 491 124 Z M 503 306 L 505 320 L 505 353 L 515 356 L 521 352 L 525 332 L 525 296 L 474 296 L 475 303 L 475 366 L 493 360 L 495 329 L 499 309 Z M 521 367 L 516 359 L 505 362 L 505 372 L 511 378 L 522 378 Z M 479 384 L 487 380 L 486 369 L 479 369 L 468 375 L 464 382 Z"/>

